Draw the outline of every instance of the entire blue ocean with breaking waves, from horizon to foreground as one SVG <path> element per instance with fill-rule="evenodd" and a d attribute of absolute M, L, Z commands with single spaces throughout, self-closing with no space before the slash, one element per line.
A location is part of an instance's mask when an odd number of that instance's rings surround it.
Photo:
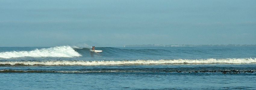
<path fill-rule="evenodd" d="M 0 90 L 255 90 L 255 46 L 0 47 Z"/>

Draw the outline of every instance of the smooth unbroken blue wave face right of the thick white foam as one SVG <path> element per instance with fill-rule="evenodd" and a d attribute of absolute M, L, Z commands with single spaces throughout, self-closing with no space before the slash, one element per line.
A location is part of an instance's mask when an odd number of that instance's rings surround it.
<path fill-rule="evenodd" d="M 77 49 L 84 57 L 114 58 L 116 60 L 160 59 L 208 59 L 208 58 L 255 58 L 255 47 L 96 47 L 100 53 L 89 48 Z M 83 59 L 81 59 L 83 60 Z M 88 60 L 88 59 L 87 59 Z M 97 58 L 97 60 L 100 60 Z"/>

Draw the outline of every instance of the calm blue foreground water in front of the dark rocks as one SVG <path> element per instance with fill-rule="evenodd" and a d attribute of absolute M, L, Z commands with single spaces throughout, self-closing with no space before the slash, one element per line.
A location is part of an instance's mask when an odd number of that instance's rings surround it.
<path fill-rule="evenodd" d="M 2 90 L 130 90 L 218 89 L 255 90 L 255 73 L 178 72 L 1 73 Z M 11 81 L 11 83 L 10 83 Z"/>

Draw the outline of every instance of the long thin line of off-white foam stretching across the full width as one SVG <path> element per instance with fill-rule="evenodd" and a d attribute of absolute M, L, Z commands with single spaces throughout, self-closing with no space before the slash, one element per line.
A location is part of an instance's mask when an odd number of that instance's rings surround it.
<path fill-rule="evenodd" d="M 56 61 L 0 61 L 0 64 L 23 64 L 23 65 L 129 65 L 129 64 L 204 64 L 204 63 L 256 63 L 256 58 L 228 58 L 228 59 L 175 59 L 175 60 L 111 60 L 111 61 L 70 61 L 70 60 L 56 60 Z"/>

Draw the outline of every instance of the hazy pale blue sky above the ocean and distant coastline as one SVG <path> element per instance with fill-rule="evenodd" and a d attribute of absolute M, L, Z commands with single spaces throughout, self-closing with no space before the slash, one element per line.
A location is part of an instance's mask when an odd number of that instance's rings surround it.
<path fill-rule="evenodd" d="M 256 0 L 0 0 L 0 46 L 256 44 Z"/>

